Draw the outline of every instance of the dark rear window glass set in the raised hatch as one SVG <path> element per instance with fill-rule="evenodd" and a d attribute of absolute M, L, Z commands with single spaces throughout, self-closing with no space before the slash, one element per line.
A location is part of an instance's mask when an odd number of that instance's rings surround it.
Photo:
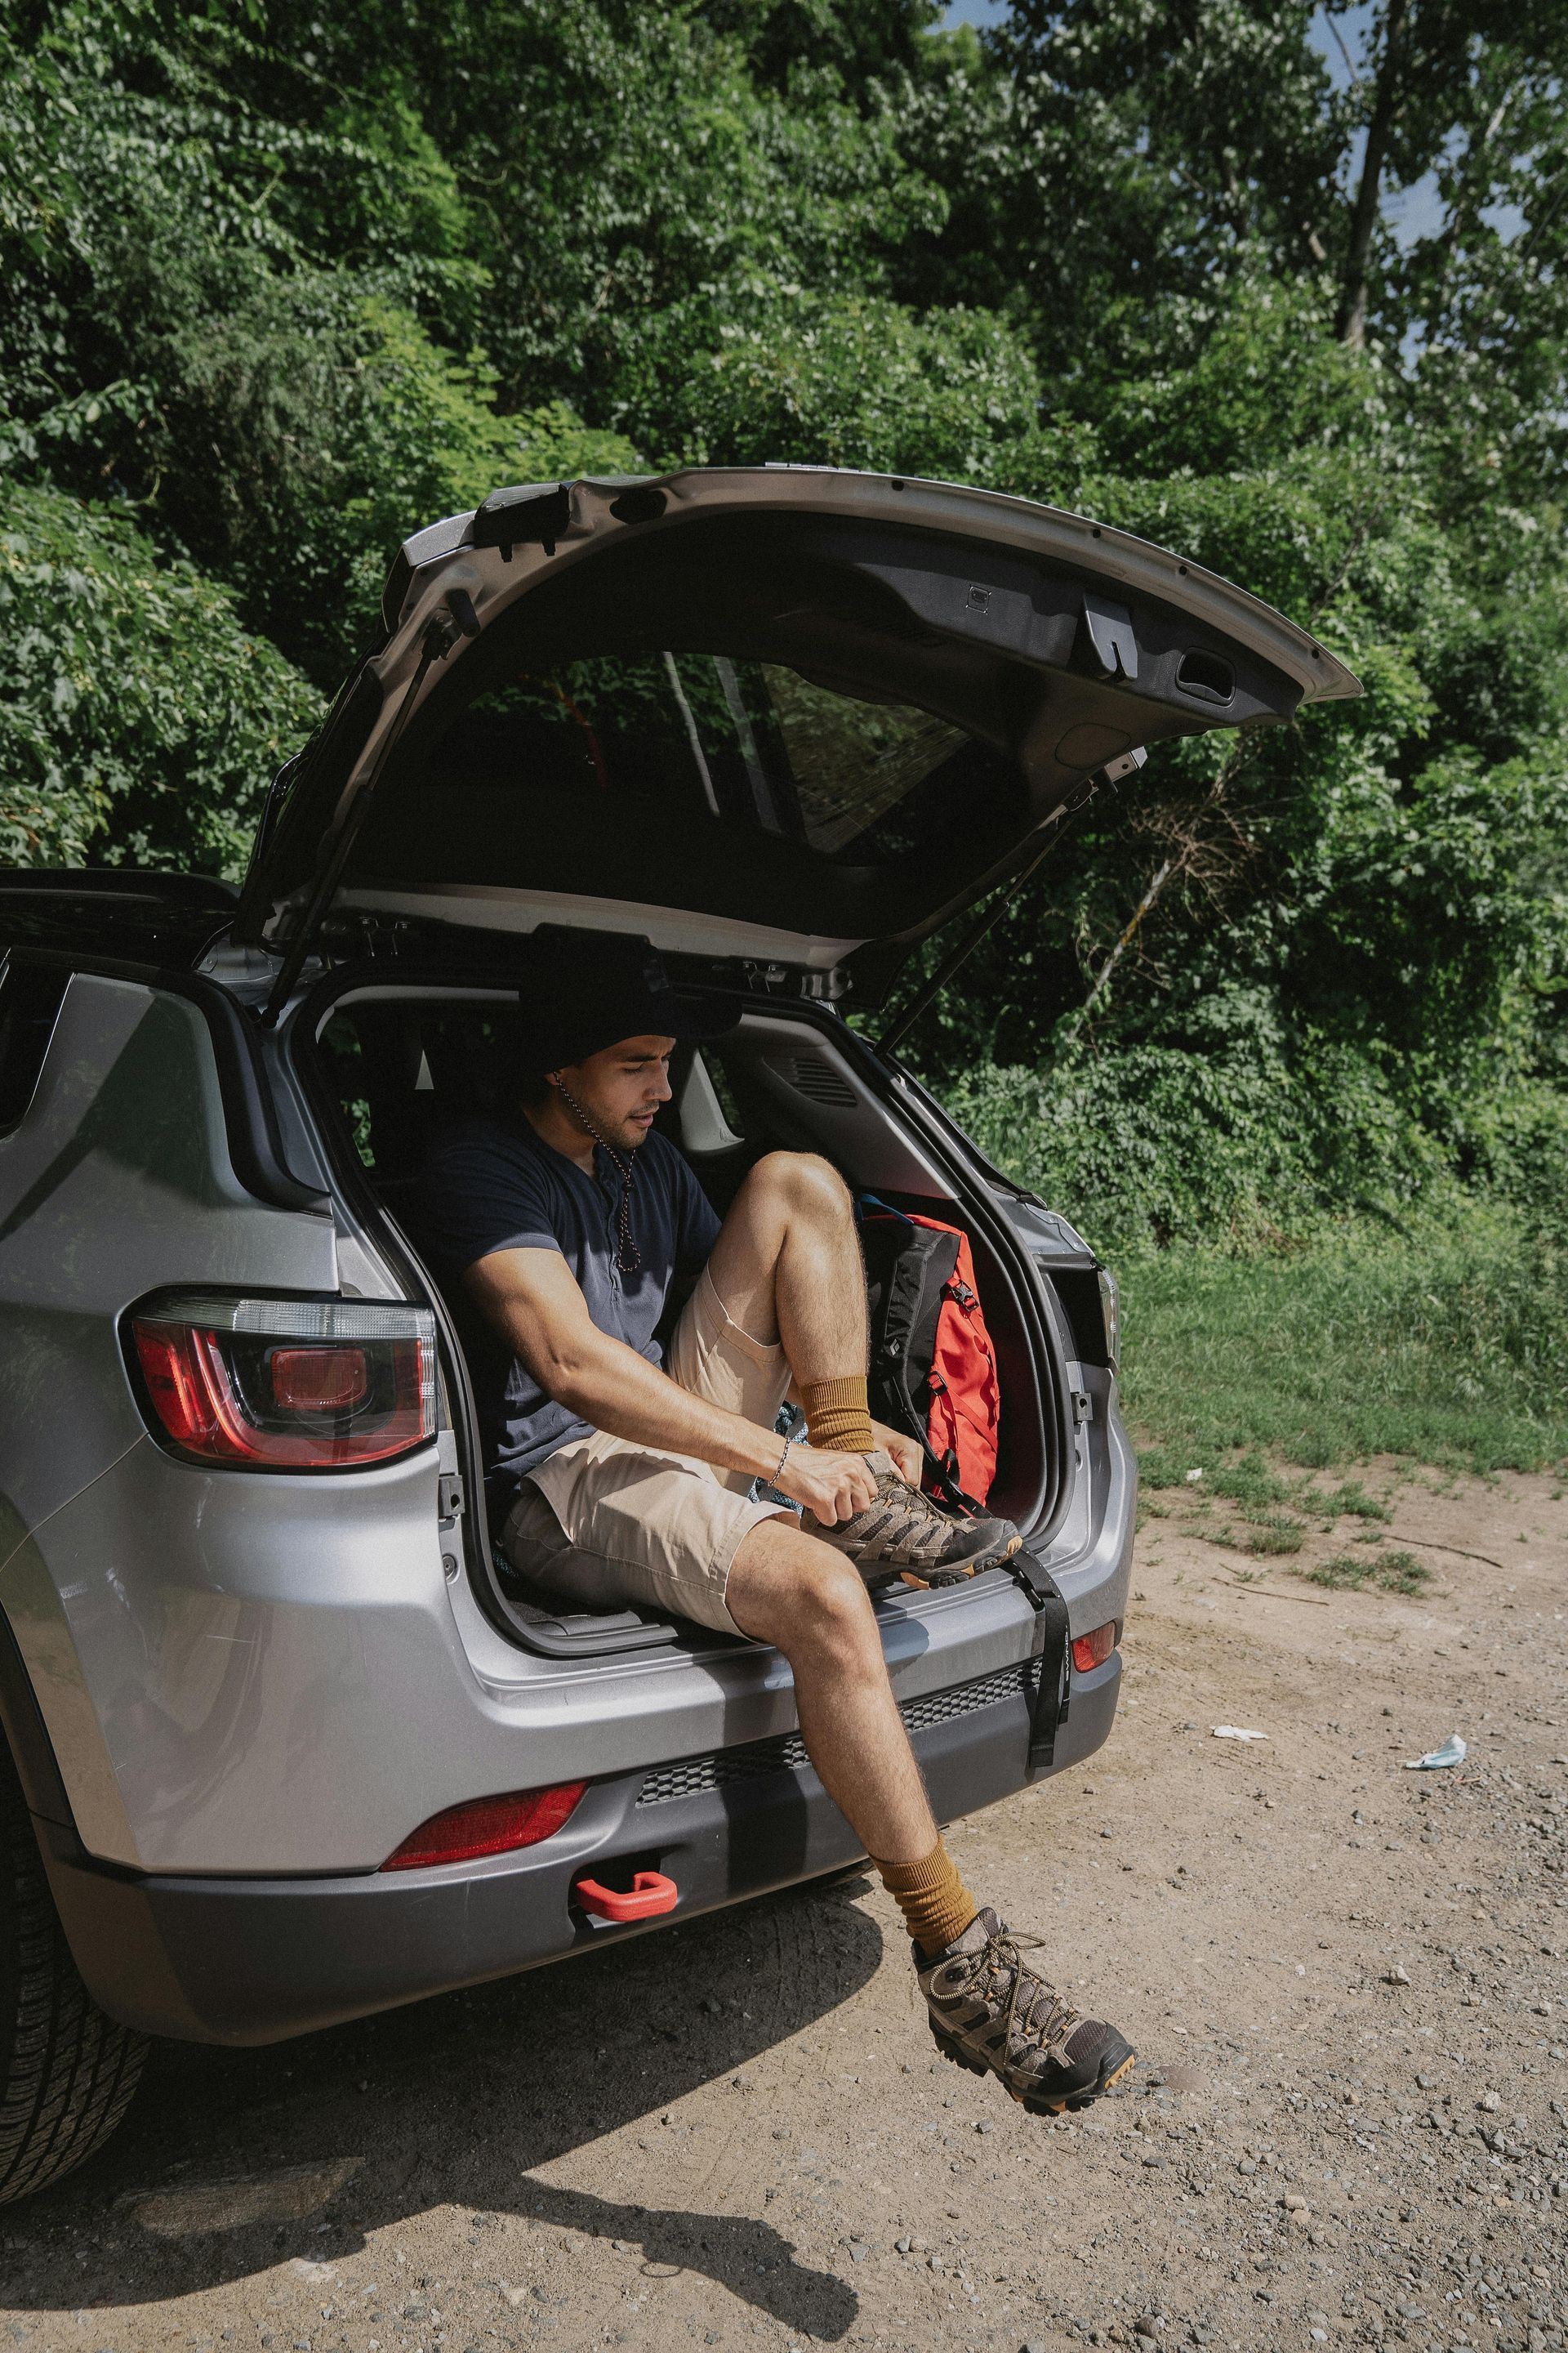
<path fill-rule="evenodd" d="M 976 788 L 990 798 L 1011 781 L 959 727 L 910 704 L 691 652 L 592 654 L 517 675 L 463 711 L 430 767 L 581 809 L 651 802 L 682 828 L 729 819 L 872 866 L 926 845 Z"/>

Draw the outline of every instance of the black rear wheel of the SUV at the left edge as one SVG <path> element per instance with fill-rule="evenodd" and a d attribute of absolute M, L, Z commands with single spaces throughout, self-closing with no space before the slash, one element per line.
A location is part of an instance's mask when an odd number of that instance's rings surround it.
<path fill-rule="evenodd" d="M 103 2146 L 143 2057 L 146 2035 L 115 2026 L 75 1972 L 0 1737 L 0 2205 Z"/>

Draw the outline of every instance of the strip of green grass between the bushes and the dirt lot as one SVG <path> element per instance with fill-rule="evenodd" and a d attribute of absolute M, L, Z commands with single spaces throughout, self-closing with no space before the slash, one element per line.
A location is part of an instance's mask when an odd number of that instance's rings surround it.
<path fill-rule="evenodd" d="M 1568 1254 L 1514 1209 L 1458 1200 L 1406 1233 L 1354 1221 L 1291 1252 L 1173 1245 L 1117 1271 L 1150 1487 L 1201 1468 L 1211 1494 L 1373 1520 L 1387 1506 L 1359 1482 L 1288 1489 L 1262 1449 L 1312 1471 L 1371 1454 L 1481 1473 L 1568 1461 Z"/>

